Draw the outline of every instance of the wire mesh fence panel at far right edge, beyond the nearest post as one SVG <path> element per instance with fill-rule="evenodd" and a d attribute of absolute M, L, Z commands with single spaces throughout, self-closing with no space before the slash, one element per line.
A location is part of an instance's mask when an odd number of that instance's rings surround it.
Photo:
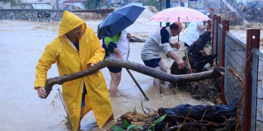
<path fill-rule="evenodd" d="M 263 51 L 253 49 L 251 130 L 263 130 Z"/>

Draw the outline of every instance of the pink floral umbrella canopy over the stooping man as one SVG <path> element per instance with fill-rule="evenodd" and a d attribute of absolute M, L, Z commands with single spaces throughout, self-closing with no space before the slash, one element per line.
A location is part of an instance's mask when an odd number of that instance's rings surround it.
<path fill-rule="evenodd" d="M 207 21 L 211 20 L 207 17 L 207 15 L 204 15 L 203 13 L 186 7 L 173 7 L 168 8 L 165 10 L 160 11 L 159 13 L 153 15 L 150 19 L 150 21 L 157 21 L 157 22 L 191 22 L 191 21 Z"/>

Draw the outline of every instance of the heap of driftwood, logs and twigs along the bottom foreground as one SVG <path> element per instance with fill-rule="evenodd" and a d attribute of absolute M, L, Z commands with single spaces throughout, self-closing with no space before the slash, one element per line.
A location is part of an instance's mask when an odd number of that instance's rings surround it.
<path fill-rule="evenodd" d="M 143 131 L 172 131 L 179 128 L 185 131 L 231 131 L 235 130 L 237 108 L 238 99 L 229 105 L 181 104 L 174 108 L 159 108 L 158 111 L 150 111 L 148 114 L 127 112 L 117 119 L 115 126 L 120 127 L 120 130 L 127 130 L 128 123 L 128 125 L 134 125 L 132 130 Z M 159 121 L 160 118 L 164 119 Z M 126 125 L 124 121 L 127 122 Z M 159 122 L 156 123 L 156 121 Z M 112 130 L 114 128 L 111 127 L 107 131 Z"/>

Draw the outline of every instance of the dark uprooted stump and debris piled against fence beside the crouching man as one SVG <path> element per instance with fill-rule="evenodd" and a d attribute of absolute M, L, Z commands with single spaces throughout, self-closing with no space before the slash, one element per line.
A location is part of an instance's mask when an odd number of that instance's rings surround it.
<path fill-rule="evenodd" d="M 188 48 L 188 52 L 185 53 L 186 55 L 183 57 L 183 60 L 186 62 L 185 68 L 179 70 L 177 63 L 174 62 L 171 66 L 171 74 L 192 74 L 212 69 L 214 59 L 218 54 L 207 55 L 203 51 L 205 45 L 209 43 L 211 39 L 211 31 L 205 31 L 205 33 Z M 207 63 L 210 64 L 210 67 L 205 67 Z M 193 98 L 205 99 L 215 104 L 222 104 L 220 99 L 220 81 L 221 78 L 211 78 L 199 82 L 171 83 L 170 88 L 184 88 L 190 91 Z"/>

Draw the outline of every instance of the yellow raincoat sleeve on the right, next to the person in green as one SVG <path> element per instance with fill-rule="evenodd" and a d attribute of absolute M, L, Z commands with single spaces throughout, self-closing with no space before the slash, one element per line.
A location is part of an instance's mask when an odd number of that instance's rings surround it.
<path fill-rule="evenodd" d="M 87 65 L 89 63 L 97 64 L 99 61 L 102 61 L 105 56 L 105 50 L 102 48 L 101 42 L 94 32 L 93 32 L 93 37 L 94 37 L 94 52 L 91 59 L 89 59 L 89 61 L 87 62 Z"/>

